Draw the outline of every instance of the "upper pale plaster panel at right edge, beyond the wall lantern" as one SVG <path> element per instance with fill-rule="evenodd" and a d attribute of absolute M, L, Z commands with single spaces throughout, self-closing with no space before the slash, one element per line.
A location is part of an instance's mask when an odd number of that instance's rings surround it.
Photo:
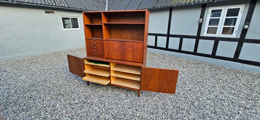
<path fill-rule="evenodd" d="M 247 31 L 246 39 L 260 39 L 259 28 L 260 28 L 260 1 L 257 1 L 257 4 L 254 9 L 253 17 L 250 23 L 250 26 Z M 260 57 L 260 56 L 259 56 Z"/>

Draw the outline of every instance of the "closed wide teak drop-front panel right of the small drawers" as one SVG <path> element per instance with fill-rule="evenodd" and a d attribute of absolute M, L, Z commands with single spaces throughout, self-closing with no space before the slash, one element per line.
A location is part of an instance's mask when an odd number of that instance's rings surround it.
<path fill-rule="evenodd" d="M 143 43 L 104 40 L 104 57 L 143 62 Z"/>

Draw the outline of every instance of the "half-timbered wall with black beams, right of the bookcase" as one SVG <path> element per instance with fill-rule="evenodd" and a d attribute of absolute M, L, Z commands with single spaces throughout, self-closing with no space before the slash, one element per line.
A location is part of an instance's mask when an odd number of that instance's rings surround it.
<path fill-rule="evenodd" d="M 209 8 L 244 5 L 235 37 L 204 36 Z M 148 50 L 260 73 L 260 2 L 238 0 L 149 10 Z M 203 18 L 202 24 L 199 19 Z M 249 29 L 243 29 L 250 21 Z"/>

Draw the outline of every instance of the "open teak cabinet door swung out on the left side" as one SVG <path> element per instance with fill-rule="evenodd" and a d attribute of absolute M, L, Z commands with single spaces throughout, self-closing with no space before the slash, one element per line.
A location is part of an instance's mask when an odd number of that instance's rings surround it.
<path fill-rule="evenodd" d="M 70 72 L 85 77 L 83 58 L 79 58 L 73 55 L 67 55 Z"/>

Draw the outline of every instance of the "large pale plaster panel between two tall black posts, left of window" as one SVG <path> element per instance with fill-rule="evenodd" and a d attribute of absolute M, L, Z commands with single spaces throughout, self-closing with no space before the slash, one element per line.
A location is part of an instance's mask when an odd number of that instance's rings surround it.
<path fill-rule="evenodd" d="M 170 34 L 197 35 L 202 5 L 172 8 Z"/>

